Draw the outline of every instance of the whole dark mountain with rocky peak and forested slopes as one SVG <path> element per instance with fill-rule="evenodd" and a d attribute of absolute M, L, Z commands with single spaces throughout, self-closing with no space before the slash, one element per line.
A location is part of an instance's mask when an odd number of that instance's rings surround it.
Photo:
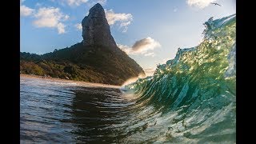
<path fill-rule="evenodd" d="M 113 85 L 145 74 L 114 42 L 100 4 L 83 18 L 82 38 L 74 46 L 43 55 L 21 53 L 21 72 Z"/>

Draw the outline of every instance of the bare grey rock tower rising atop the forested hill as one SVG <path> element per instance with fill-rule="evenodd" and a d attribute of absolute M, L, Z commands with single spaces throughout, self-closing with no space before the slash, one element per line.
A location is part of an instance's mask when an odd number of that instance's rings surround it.
<path fill-rule="evenodd" d="M 82 19 L 82 38 L 84 46 L 117 47 L 110 32 L 103 7 L 97 3 Z"/>

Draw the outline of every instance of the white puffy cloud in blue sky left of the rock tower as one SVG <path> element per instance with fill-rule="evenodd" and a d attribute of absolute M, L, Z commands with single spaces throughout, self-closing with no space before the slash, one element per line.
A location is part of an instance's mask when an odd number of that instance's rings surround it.
<path fill-rule="evenodd" d="M 69 16 L 62 14 L 59 8 L 42 7 L 34 14 L 34 18 L 36 18 L 33 22 L 34 26 L 57 28 L 58 34 L 63 34 L 66 26 L 62 22 L 66 21 Z"/>

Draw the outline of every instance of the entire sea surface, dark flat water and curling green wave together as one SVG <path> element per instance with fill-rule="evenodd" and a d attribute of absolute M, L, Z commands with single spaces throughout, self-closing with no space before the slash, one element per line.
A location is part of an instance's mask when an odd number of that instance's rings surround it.
<path fill-rule="evenodd" d="M 20 79 L 21 143 L 235 143 L 236 15 L 118 88 Z"/>

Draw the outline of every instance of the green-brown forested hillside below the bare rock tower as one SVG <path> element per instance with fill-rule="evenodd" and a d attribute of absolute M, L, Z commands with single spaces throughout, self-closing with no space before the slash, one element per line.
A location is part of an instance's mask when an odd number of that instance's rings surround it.
<path fill-rule="evenodd" d="M 21 52 L 20 70 L 22 74 L 114 85 L 144 74 L 142 68 L 117 47 L 88 47 L 82 42 L 42 55 Z"/>

